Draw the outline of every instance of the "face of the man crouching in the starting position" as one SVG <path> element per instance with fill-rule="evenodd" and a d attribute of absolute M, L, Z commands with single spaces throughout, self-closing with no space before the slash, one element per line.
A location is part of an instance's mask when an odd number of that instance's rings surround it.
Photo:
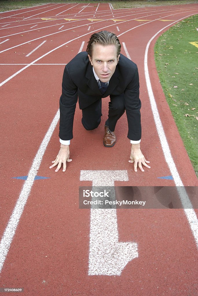
<path fill-rule="evenodd" d="M 120 55 L 117 57 L 117 48 L 114 44 L 93 46 L 92 57 L 88 54 L 91 65 L 102 82 L 110 81 Z"/>

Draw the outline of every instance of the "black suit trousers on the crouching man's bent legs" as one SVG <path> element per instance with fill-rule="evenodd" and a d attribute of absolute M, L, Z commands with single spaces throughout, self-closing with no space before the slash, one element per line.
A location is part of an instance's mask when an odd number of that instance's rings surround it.
<path fill-rule="evenodd" d="M 109 126 L 110 131 L 115 130 L 117 120 L 124 114 L 124 94 L 118 96 L 110 95 L 108 119 L 105 125 Z M 82 109 L 82 124 L 86 130 L 97 128 L 101 122 L 102 99 L 97 100 L 88 107 Z"/>

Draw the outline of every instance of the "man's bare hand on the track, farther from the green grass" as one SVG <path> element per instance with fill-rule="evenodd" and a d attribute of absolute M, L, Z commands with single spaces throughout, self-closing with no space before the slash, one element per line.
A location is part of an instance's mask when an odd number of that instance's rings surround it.
<path fill-rule="evenodd" d="M 62 163 L 63 163 L 63 170 L 62 171 L 65 172 L 66 163 L 72 161 L 72 159 L 69 159 L 69 157 L 70 157 L 69 145 L 60 144 L 59 153 L 58 153 L 56 159 L 52 161 L 52 163 L 54 163 L 54 164 L 51 165 L 49 168 L 54 168 L 56 165 L 58 165 L 55 170 L 55 172 L 58 172 L 59 169 L 61 168 Z"/>

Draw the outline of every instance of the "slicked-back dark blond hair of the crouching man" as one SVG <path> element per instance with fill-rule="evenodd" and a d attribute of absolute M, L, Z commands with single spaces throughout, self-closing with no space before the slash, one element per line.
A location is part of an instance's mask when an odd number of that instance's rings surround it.
<path fill-rule="evenodd" d="M 117 57 L 120 54 L 121 44 L 114 33 L 108 31 L 100 31 L 98 33 L 94 33 L 93 35 L 91 35 L 87 43 L 88 44 L 86 52 L 90 55 L 90 57 L 92 57 L 94 44 L 100 44 L 103 46 L 114 44 L 117 48 Z"/>

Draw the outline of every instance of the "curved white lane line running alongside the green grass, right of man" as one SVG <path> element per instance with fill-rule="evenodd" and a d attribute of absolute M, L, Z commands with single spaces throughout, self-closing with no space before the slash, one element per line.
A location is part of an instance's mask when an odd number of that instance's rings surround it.
<path fill-rule="evenodd" d="M 192 14 L 191 14 L 192 15 Z M 191 15 L 185 16 L 183 18 L 181 18 L 180 20 L 183 20 L 187 17 L 190 17 Z M 180 20 L 177 20 L 175 22 L 178 22 Z M 177 190 L 178 190 L 178 194 L 180 197 L 180 200 L 182 202 L 182 206 L 184 208 L 184 213 L 186 214 L 186 218 L 189 222 L 192 234 L 194 236 L 195 242 L 197 244 L 197 248 L 198 248 L 198 219 L 197 219 L 197 215 L 193 209 L 193 206 L 189 200 L 189 197 L 186 193 L 185 188 L 183 187 L 183 183 L 182 180 L 179 176 L 178 170 L 176 168 L 176 164 L 173 160 L 173 157 L 171 155 L 171 151 L 170 151 L 170 147 L 168 145 L 168 141 L 166 139 L 166 135 L 162 126 L 162 122 L 160 119 L 160 114 L 158 112 L 157 109 L 157 104 L 155 101 L 155 97 L 152 91 L 152 86 L 151 86 L 151 81 L 150 81 L 150 77 L 149 77 L 149 70 L 148 70 L 148 50 L 149 50 L 149 46 L 151 44 L 151 41 L 161 32 L 163 31 L 165 28 L 169 27 L 170 25 L 173 25 L 175 22 L 172 22 L 171 24 L 165 26 L 164 28 L 162 28 L 161 30 L 159 30 L 148 42 L 146 50 L 145 50 L 145 56 L 144 56 L 144 69 L 145 69 L 145 78 L 146 78 L 146 83 L 147 83 L 147 89 L 148 89 L 148 94 L 149 94 L 149 99 L 150 99 L 150 104 L 151 104 L 151 109 L 153 112 L 153 117 L 154 117 L 154 121 L 155 121 L 155 125 L 156 125 L 156 129 L 157 129 L 157 133 L 158 136 L 160 138 L 160 143 L 162 146 L 162 150 L 164 153 L 164 157 L 166 160 L 166 163 L 168 164 L 168 167 L 170 169 L 171 175 L 173 176 L 174 182 L 177 186 Z M 182 187 L 178 187 L 178 186 L 182 186 Z M 190 208 L 185 209 L 185 204 L 190 205 Z"/>

